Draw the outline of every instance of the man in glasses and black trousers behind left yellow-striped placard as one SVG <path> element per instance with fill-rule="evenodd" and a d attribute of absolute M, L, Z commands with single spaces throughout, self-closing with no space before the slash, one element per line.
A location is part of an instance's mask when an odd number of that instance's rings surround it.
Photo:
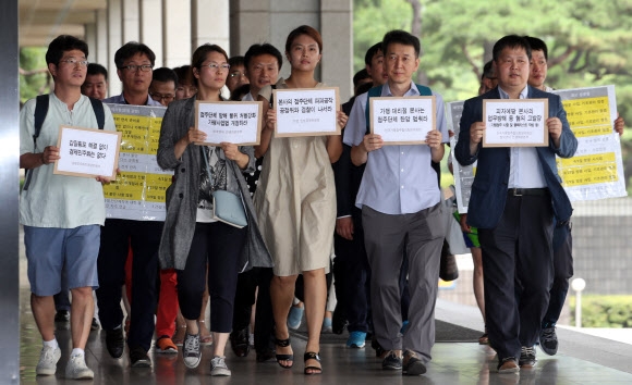
<path fill-rule="evenodd" d="M 121 47 L 114 54 L 114 63 L 117 74 L 123 83 L 123 91 L 104 101 L 161 107 L 148 92 L 155 60 L 156 55 L 144 44 L 131 41 Z M 158 245 L 162 224 L 159 221 L 107 219 L 101 227 L 98 258 L 100 286 L 97 300 L 99 321 L 106 332 L 106 347 L 112 358 L 120 358 L 124 350 L 121 288 L 125 281 L 125 261 L 130 248 L 133 254 L 131 322 L 126 338 L 133 368 L 151 367 L 147 351 L 151 346 L 155 328 Z"/>

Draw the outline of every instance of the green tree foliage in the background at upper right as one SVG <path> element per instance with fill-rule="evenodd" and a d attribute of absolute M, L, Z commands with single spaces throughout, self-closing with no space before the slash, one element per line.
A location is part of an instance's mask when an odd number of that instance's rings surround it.
<path fill-rule="evenodd" d="M 364 65 L 366 49 L 386 32 L 412 32 L 418 22 L 427 85 L 446 101 L 464 100 L 476 94 L 494 42 L 509 34 L 530 35 L 547 42 L 547 85 L 562 89 L 612 84 L 619 113 L 632 122 L 632 0 L 355 0 L 354 5 L 356 69 Z M 413 5 L 421 5 L 418 21 Z M 622 142 L 628 170 L 630 138 L 628 128 Z"/>

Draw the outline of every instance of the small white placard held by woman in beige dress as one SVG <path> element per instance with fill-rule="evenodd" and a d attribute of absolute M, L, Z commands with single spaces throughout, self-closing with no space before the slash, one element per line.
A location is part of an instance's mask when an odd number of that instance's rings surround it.
<path fill-rule="evenodd" d="M 338 87 L 274 90 L 276 137 L 340 135 Z"/>

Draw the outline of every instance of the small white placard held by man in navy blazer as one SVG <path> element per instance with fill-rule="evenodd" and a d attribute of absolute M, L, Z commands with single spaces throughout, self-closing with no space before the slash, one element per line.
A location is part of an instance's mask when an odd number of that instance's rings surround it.
<path fill-rule="evenodd" d="M 548 99 L 483 100 L 483 147 L 547 147 Z"/>

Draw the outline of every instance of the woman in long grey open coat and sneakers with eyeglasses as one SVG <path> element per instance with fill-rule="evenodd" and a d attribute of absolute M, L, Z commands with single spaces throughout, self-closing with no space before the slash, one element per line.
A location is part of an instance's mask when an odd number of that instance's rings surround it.
<path fill-rule="evenodd" d="M 254 222 L 254 209 L 242 173 L 253 172 L 252 147 L 223 142 L 220 147 L 198 146 L 206 134 L 195 128 L 195 101 L 222 101 L 220 90 L 229 74 L 228 55 L 216 45 L 204 45 L 191 63 L 197 95 L 169 104 L 158 147 L 158 164 L 174 170 L 167 189 L 167 219 L 160 241 L 163 269 L 178 274 L 178 300 L 186 323 L 182 356 L 187 368 L 202 360 L 199 325 L 202 295 L 208 263 L 210 331 L 214 337 L 211 375 L 231 375 L 224 348 L 232 325 L 232 309 L 240 271 L 246 265 L 271 264 Z M 212 215 L 212 191 L 241 196 L 247 226 L 238 228 Z M 245 250 L 244 250 L 245 248 Z M 244 252 L 246 251 L 246 252 Z"/>

